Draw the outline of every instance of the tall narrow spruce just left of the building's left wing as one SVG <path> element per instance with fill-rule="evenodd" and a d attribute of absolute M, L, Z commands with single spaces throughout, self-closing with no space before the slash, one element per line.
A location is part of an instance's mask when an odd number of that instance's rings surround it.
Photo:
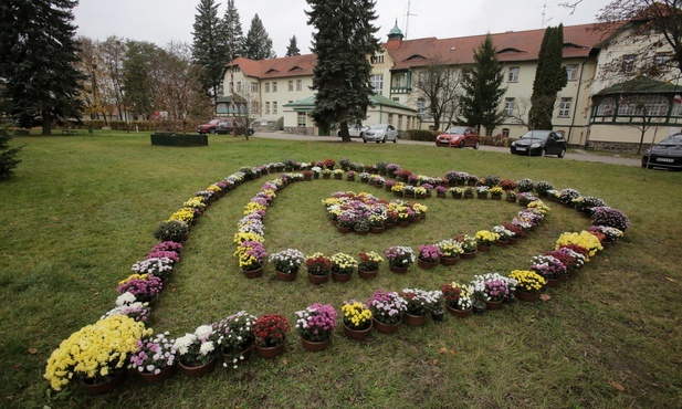
<path fill-rule="evenodd" d="M 218 18 L 216 0 L 199 1 L 193 29 L 192 60 L 201 69 L 199 82 L 216 102 L 220 94 L 220 75 L 228 54 L 227 30 Z"/>

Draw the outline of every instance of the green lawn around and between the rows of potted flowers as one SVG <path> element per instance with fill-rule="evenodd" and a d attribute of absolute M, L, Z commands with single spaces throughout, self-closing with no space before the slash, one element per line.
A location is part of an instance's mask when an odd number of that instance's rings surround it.
<path fill-rule="evenodd" d="M 336 138 L 332 138 L 336 140 Z M 286 141 L 210 136 L 210 146 L 149 145 L 147 134 L 102 132 L 94 137 L 17 137 L 27 144 L 17 177 L 0 185 L 0 399 L 8 407 L 680 407 L 682 406 L 682 237 L 680 174 L 525 158 L 426 146 Z M 134 377 L 116 394 L 91 397 L 80 388 L 50 392 L 48 357 L 71 333 L 112 307 L 115 287 L 156 243 L 151 232 L 195 191 L 241 166 L 287 158 L 348 157 L 391 161 L 412 171 L 547 180 L 576 188 L 629 214 L 632 228 L 598 254 L 579 276 L 552 289 L 545 303 L 516 303 L 483 316 L 428 322 L 366 342 L 343 335 L 329 350 L 303 352 L 295 334 L 281 359 L 252 360 L 200 379 L 176 374 L 164 385 Z M 293 312 L 313 302 L 366 300 L 376 289 L 438 289 L 473 274 L 525 268 L 566 230 L 588 221 L 553 206 L 546 223 L 516 247 L 473 261 L 405 276 L 382 266 L 366 282 L 307 284 L 265 276 L 245 280 L 232 258 L 243 206 L 262 181 L 220 199 L 192 229 L 182 262 L 154 311 L 155 331 L 182 335 L 239 310 Z M 365 188 L 365 189 L 363 189 Z M 489 200 L 427 199 L 421 224 L 359 238 L 337 234 L 321 200 L 336 190 L 386 192 L 359 182 L 300 182 L 269 209 L 266 248 L 357 253 L 394 244 L 418 247 L 511 220 L 520 208 Z M 620 390 L 622 389 L 622 390 Z"/>

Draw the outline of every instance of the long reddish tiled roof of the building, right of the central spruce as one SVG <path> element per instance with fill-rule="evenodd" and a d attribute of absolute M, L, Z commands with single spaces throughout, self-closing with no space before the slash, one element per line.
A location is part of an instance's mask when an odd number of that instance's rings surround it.
<path fill-rule="evenodd" d="M 564 28 L 564 59 L 587 57 L 597 44 L 616 32 L 621 24 L 598 30 L 599 24 L 569 25 Z M 545 30 L 511 31 L 491 34 L 501 62 L 535 61 Z M 447 64 L 472 64 L 474 51 L 485 40 L 485 34 L 454 39 L 427 38 L 389 41 L 385 44 L 392 56 L 392 70 L 407 70 L 440 60 Z"/>

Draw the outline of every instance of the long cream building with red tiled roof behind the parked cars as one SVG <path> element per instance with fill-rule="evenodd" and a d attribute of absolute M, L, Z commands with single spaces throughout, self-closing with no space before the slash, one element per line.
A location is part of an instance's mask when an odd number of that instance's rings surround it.
<path fill-rule="evenodd" d="M 625 41 L 637 23 L 564 28 L 564 66 L 568 84 L 557 96 L 553 125 L 555 130 L 566 135 L 569 145 L 632 149 L 642 138 L 633 118 L 641 117 L 643 112 L 649 117 L 642 120 L 653 124 L 650 126 L 653 130 L 649 132 L 652 135 L 655 132 L 655 140 L 680 132 L 682 86 L 679 76 L 668 69 L 672 50 L 665 42 L 657 43 L 658 39 L 652 36 L 649 41 L 660 49 L 653 61 L 637 55 L 640 44 Z M 506 93 L 500 109 L 507 116 L 499 127 L 483 129 L 485 135 L 517 137 L 527 130 L 525 124 L 544 33 L 545 30 L 528 30 L 491 34 L 505 75 Z M 461 74 L 463 67 L 473 64 L 474 51 L 484 39 L 485 34 L 405 40 L 396 22 L 381 51 L 368 56 L 373 64 L 370 81 L 377 105 L 369 108 L 365 124 L 390 123 L 401 130 L 432 128 L 434 122 L 419 87 L 419 78 L 423 78 L 429 66 L 433 65 L 447 66 L 455 75 Z M 637 61 L 638 57 L 641 61 Z M 315 62 L 312 54 L 263 61 L 238 57 L 227 65 L 225 94 L 229 93 L 230 75 L 233 75 L 235 93 L 249 102 L 250 112 L 255 114 L 251 118 L 258 118 L 256 125 L 273 129 L 281 124 L 279 128 L 286 132 L 326 134 L 328 129 L 316 128 L 307 115 L 314 106 L 314 93 L 309 86 Z M 631 84 L 631 74 L 638 64 L 660 64 L 658 84 L 664 84 L 664 90 L 660 86 L 648 88 L 647 84 L 653 83 L 636 81 L 638 90 L 629 94 L 622 84 Z M 606 105 L 599 108 L 595 104 L 609 99 L 605 99 L 611 95 L 608 92 L 628 97 L 629 104 L 620 104 L 621 99 L 618 99 L 618 106 L 612 109 Z M 448 120 L 442 123 L 448 124 L 451 118 L 455 122 L 457 109 L 452 106 L 452 112 L 443 118 Z M 655 114 L 653 119 L 652 114 Z M 652 140 L 646 136 L 648 141 Z"/>

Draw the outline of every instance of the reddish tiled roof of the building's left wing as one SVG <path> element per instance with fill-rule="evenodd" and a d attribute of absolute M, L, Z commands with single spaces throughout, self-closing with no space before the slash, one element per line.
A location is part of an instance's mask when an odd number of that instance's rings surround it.
<path fill-rule="evenodd" d="M 280 78 L 300 75 L 313 75 L 313 67 L 317 62 L 315 54 L 283 56 L 270 60 L 250 60 L 243 56 L 234 59 L 234 65 L 239 66 L 244 74 L 261 78 Z M 228 63 L 229 67 L 230 64 Z"/>

